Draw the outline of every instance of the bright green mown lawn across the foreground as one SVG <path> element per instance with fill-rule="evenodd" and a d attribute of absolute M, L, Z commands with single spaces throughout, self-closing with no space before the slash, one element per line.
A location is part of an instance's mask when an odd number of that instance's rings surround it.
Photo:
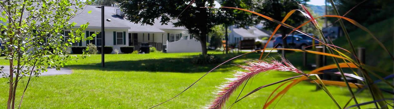
<path fill-rule="evenodd" d="M 221 52 L 210 53 L 217 54 L 223 59 L 236 56 L 236 54 L 224 55 Z M 100 67 L 100 55 L 91 55 L 78 62 L 70 62 L 66 67 L 72 68 L 72 74 L 41 76 L 33 80 L 22 107 L 29 109 L 146 109 L 179 93 L 216 65 L 190 64 L 191 56 L 197 54 L 199 53 L 107 54 L 106 68 Z M 257 53 L 249 54 L 221 66 L 191 89 L 170 102 L 160 105 L 157 109 L 196 109 L 204 107 L 214 98 L 212 92 L 216 91 L 215 86 L 220 85 L 225 81 L 224 78 L 232 75 L 230 70 L 238 70 L 238 67 L 230 64 L 242 64 L 243 60 L 256 59 L 258 56 Z M 277 54 L 272 53 L 271 56 L 276 57 Z M 289 56 L 292 56 L 292 54 Z M 6 60 L 0 59 L 0 64 L 6 64 Z M 301 65 L 302 63 L 293 64 Z M 290 72 L 275 71 L 257 75 L 246 85 L 242 95 L 261 85 L 296 75 Z M 0 108 L 6 107 L 8 96 L 6 81 L 4 78 L 0 79 L 0 101 L 2 101 Z M 20 85 L 23 84 L 26 84 L 26 82 Z M 262 108 L 266 98 L 277 86 L 267 87 L 252 94 L 234 105 L 233 109 Z M 293 87 L 278 103 L 274 103 L 270 108 L 274 106 L 277 109 L 336 108 L 329 96 L 324 91 L 314 91 L 315 87 L 309 82 L 302 82 Z M 350 97 L 346 87 L 329 86 L 328 88 L 342 106 L 349 100 Z M 22 88 L 19 87 L 18 99 L 21 90 Z M 237 92 L 239 93 L 239 90 Z M 366 93 L 364 91 L 357 96 L 359 102 L 370 101 Z M 236 95 L 232 96 L 230 102 L 234 102 L 235 98 Z M 371 105 L 368 107 L 371 107 Z"/>

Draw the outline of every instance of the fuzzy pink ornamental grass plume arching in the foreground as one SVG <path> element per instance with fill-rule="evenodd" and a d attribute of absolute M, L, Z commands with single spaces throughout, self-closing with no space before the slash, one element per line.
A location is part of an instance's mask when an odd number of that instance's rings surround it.
<path fill-rule="evenodd" d="M 235 78 L 227 78 L 228 82 L 225 82 L 219 88 L 216 93 L 217 97 L 208 105 L 209 109 L 221 109 L 226 101 L 229 99 L 230 95 L 248 78 L 255 76 L 256 74 L 266 72 L 266 71 L 291 71 L 294 73 L 301 73 L 296 67 L 294 67 L 290 62 L 282 58 L 282 62 L 277 60 L 249 60 L 245 62 L 247 65 L 238 65 L 241 69 L 245 71 L 236 71 L 234 74 Z"/>

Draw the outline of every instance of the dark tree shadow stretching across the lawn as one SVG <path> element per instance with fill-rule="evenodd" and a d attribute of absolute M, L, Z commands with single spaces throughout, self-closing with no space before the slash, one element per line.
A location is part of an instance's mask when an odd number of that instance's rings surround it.
<path fill-rule="evenodd" d="M 143 54 L 141 54 L 143 55 Z M 240 55 L 240 53 L 234 54 L 215 54 L 221 58 L 221 62 L 224 62 L 232 57 Z M 87 64 L 87 65 L 67 65 L 72 69 L 101 69 L 104 71 L 149 71 L 149 72 L 174 72 L 174 73 L 200 73 L 208 72 L 218 64 L 205 64 L 198 65 L 192 64 L 191 60 L 193 56 L 181 56 L 179 58 L 161 58 L 161 59 L 145 59 L 145 60 L 123 60 L 123 61 L 110 61 L 105 62 L 105 68 L 101 68 L 101 64 Z M 259 56 L 257 53 L 242 56 L 240 59 L 256 59 Z M 239 61 L 238 61 L 239 62 Z M 227 64 L 221 65 L 215 71 L 229 71 L 235 70 L 234 65 L 231 64 L 243 64 L 243 62 L 234 63 L 230 61 Z"/>

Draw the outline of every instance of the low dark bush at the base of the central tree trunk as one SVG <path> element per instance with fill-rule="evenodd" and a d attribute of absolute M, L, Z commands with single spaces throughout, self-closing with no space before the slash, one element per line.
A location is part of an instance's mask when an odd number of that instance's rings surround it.
<path fill-rule="evenodd" d="M 217 64 L 221 62 L 221 59 L 214 54 L 200 54 L 198 56 L 193 57 L 191 63 L 193 64 Z"/>

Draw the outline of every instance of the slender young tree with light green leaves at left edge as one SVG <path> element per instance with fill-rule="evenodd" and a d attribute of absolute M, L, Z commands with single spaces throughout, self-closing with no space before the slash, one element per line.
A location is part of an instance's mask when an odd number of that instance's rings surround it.
<path fill-rule="evenodd" d="M 0 42 L 1 54 L 9 60 L 9 73 L 1 71 L 9 80 L 7 109 L 15 108 L 15 96 L 18 83 L 27 78 L 19 107 L 31 78 L 43 73 L 48 67 L 56 68 L 66 65 L 70 60 L 82 56 L 65 56 L 65 49 L 72 43 L 84 38 L 83 30 L 88 24 L 74 28 L 76 23 L 70 19 L 83 9 L 85 4 L 78 0 L 6 0 L 0 2 Z M 69 36 L 61 34 L 63 29 L 71 29 Z M 64 55 L 64 56 L 61 56 Z M 14 66 L 15 65 L 15 66 Z M 15 77 L 14 77 L 15 76 Z"/>

